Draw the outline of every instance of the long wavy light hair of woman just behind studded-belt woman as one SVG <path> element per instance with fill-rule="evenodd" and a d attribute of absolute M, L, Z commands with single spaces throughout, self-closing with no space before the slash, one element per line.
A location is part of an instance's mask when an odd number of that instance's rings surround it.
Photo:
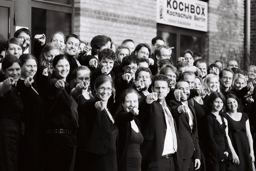
<path fill-rule="evenodd" d="M 45 47 L 43 48 L 43 51 L 41 52 L 41 55 L 39 57 L 39 64 L 41 66 L 46 66 L 46 67 L 50 66 L 50 63 L 47 60 L 46 53 L 48 51 L 54 50 L 54 49 L 59 50 L 59 54 L 62 54 L 61 47 L 57 43 L 50 42 L 45 45 Z"/>

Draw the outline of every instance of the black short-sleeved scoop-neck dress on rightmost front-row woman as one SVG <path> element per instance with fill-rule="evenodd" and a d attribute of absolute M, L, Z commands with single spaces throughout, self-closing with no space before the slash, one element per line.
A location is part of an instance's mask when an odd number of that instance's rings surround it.
<path fill-rule="evenodd" d="M 230 162 L 228 170 L 230 171 L 252 171 L 252 163 L 250 162 L 250 146 L 246 135 L 246 121 L 248 116 L 242 113 L 240 121 L 234 121 L 228 114 L 224 114 L 228 120 L 228 136 L 232 142 L 234 150 L 239 158 L 239 165 Z"/>

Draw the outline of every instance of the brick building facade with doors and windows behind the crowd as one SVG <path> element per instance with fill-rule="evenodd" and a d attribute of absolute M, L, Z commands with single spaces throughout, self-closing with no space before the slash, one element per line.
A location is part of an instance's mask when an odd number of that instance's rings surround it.
<path fill-rule="evenodd" d="M 209 64 L 215 60 L 236 60 L 245 70 L 256 64 L 256 0 L 250 0 L 250 54 L 245 55 L 245 0 L 204 0 L 207 3 L 207 31 L 182 28 L 157 21 L 157 7 L 182 0 L 0 0 L 0 34 L 5 39 L 15 29 L 27 27 L 32 37 L 45 33 L 74 33 L 87 42 L 96 35 L 108 35 L 116 46 L 125 39 L 151 45 L 151 39 L 162 36 L 174 47 L 176 63 L 182 51 L 191 49 L 203 54 Z M 186 0 L 185 0 L 186 2 Z M 183 2 L 184 3 L 184 2 Z M 195 2 L 197 3 L 197 2 Z M 200 3 L 199 3 L 200 4 Z M 197 9 L 195 9 L 197 10 Z M 196 11 L 197 12 L 197 11 Z M 33 53 L 33 43 L 30 52 Z M 32 50 L 32 51 L 31 51 Z"/>

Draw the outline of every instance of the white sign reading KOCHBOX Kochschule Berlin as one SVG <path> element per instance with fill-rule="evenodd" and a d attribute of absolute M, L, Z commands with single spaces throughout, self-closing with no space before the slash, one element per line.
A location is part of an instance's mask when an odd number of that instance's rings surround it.
<path fill-rule="evenodd" d="M 157 0 L 156 22 L 207 31 L 208 4 L 199 0 Z"/>

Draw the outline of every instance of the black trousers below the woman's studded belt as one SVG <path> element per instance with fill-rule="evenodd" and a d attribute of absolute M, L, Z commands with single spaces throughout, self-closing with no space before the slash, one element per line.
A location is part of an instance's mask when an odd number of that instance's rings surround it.
<path fill-rule="evenodd" d="M 66 145 L 65 138 L 60 134 L 49 134 L 46 143 L 45 171 L 72 171 L 74 148 Z"/>

